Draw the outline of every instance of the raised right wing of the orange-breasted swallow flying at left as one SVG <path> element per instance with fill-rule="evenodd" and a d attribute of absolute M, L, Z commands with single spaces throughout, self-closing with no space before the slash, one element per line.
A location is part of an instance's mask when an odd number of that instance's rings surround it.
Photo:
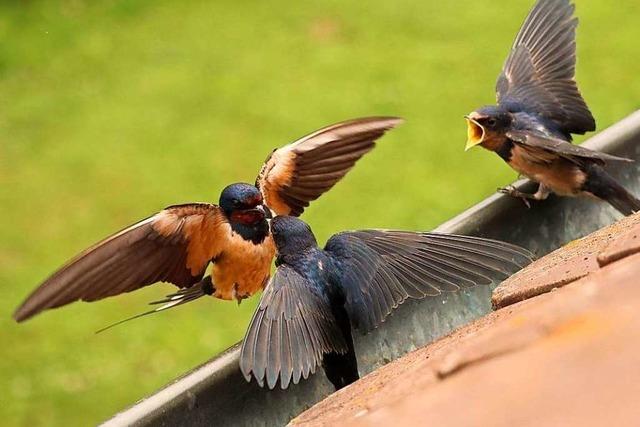
<path fill-rule="evenodd" d="M 322 128 L 274 150 L 256 179 L 265 204 L 277 215 L 299 216 L 309 202 L 344 177 L 397 117 L 366 117 Z"/>

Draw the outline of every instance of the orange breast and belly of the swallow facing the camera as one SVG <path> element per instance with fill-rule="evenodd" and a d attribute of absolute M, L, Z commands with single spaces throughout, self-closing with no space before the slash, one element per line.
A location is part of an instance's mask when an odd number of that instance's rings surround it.
<path fill-rule="evenodd" d="M 262 290 L 269 280 L 275 252 L 271 235 L 256 245 L 233 233 L 211 269 L 214 296 L 240 301 Z"/>

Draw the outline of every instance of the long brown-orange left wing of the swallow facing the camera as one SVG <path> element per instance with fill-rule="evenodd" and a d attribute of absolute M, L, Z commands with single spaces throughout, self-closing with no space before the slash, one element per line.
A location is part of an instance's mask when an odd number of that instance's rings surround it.
<path fill-rule="evenodd" d="M 155 282 L 189 287 L 202 279 L 209 261 L 222 250 L 227 229 L 218 206 L 170 206 L 80 253 L 45 280 L 14 318 L 23 321 L 45 309 Z"/>

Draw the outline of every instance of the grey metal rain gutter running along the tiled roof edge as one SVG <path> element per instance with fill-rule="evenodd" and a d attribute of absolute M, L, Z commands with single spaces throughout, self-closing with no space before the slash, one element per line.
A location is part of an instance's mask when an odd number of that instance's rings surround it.
<path fill-rule="evenodd" d="M 586 147 L 640 160 L 640 111 L 597 134 Z M 640 193 L 640 162 L 611 165 L 609 171 L 632 193 Z M 518 187 L 531 187 L 518 181 Z M 619 218 L 605 203 L 557 198 L 532 209 L 495 194 L 447 221 L 436 231 L 501 239 L 527 247 L 538 256 Z M 429 343 L 491 310 L 491 289 L 407 301 L 378 329 L 354 336 L 360 374 Z M 284 425 L 333 391 L 322 372 L 287 390 L 269 391 L 247 383 L 240 373 L 239 344 L 157 393 L 141 400 L 105 426 Z"/>

